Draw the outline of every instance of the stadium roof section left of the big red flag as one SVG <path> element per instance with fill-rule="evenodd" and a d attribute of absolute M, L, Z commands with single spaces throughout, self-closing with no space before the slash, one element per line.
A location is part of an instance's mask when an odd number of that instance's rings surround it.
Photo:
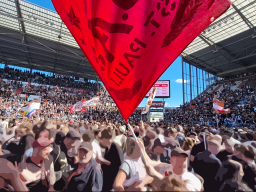
<path fill-rule="evenodd" d="M 0 0 L 0 63 L 97 78 L 59 15 L 23 0 Z"/>

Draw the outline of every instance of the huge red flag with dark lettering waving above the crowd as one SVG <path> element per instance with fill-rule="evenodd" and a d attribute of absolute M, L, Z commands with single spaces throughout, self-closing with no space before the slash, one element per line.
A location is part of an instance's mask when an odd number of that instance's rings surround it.
<path fill-rule="evenodd" d="M 125 120 L 229 0 L 52 0 Z"/>

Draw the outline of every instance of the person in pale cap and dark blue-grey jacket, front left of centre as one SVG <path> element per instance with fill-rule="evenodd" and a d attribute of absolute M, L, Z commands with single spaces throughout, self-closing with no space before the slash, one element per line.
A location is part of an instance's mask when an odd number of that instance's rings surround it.
<path fill-rule="evenodd" d="M 68 179 L 65 191 L 102 191 L 103 177 L 100 165 L 93 158 L 91 142 L 83 142 L 78 148 L 78 166 Z"/>

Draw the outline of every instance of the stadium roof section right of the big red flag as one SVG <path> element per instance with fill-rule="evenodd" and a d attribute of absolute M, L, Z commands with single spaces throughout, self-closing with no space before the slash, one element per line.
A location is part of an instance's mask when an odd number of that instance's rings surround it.
<path fill-rule="evenodd" d="M 232 2 L 184 50 L 184 61 L 220 77 L 256 70 L 256 1 Z"/>

